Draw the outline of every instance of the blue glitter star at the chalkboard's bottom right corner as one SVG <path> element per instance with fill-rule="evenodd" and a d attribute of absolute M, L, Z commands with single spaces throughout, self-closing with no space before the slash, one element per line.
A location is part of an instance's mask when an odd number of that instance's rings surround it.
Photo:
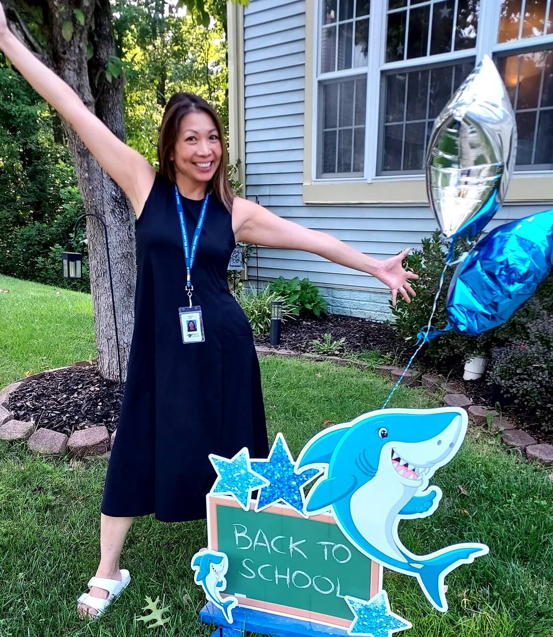
<path fill-rule="evenodd" d="M 370 637 L 390 637 L 392 633 L 412 627 L 407 620 L 391 612 L 388 593 L 381 590 L 369 601 L 346 595 L 347 605 L 355 618 L 347 630 L 349 635 L 370 635 Z"/>

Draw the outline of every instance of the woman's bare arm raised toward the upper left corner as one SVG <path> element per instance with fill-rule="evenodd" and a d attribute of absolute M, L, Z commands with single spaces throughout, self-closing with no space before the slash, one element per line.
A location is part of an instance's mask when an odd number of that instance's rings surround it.
<path fill-rule="evenodd" d="M 96 161 L 129 197 L 139 215 L 153 184 L 155 170 L 142 155 L 113 134 L 71 87 L 11 33 L 1 2 L 0 49 L 32 88 L 73 127 Z"/>

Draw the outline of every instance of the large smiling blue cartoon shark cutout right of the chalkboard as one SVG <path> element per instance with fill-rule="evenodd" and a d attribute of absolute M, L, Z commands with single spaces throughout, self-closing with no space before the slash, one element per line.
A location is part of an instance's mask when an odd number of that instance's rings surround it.
<path fill-rule="evenodd" d="M 442 497 L 429 487 L 466 434 L 465 410 L 386 409 L 317 434 L 300 453 L 297 471 L 325 467 L 307 496 L 308 515 L 330 507 L 342 532 L 382 566 L 412 575 L 431 605 L 447 611 L 444 580 L 461 564 L 486 555 L 484 544 L 463 543 L 415 555 L 398 537 L 402 519 L 431 515 Z"/>

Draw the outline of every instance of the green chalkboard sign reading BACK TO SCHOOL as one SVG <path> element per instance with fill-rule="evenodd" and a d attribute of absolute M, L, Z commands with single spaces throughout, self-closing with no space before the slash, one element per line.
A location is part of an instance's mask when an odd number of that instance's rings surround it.
<path fill-rule="evenodd" d="M 306 519 L 285 505 L 259 513 L 253 507 L 207 496 L 209 548 L 228 557 L 225 594 L 246 608 L 349 626 L 344 595 L 377 594 L 380 566 L 347 540 L 330 513 Z"/>

